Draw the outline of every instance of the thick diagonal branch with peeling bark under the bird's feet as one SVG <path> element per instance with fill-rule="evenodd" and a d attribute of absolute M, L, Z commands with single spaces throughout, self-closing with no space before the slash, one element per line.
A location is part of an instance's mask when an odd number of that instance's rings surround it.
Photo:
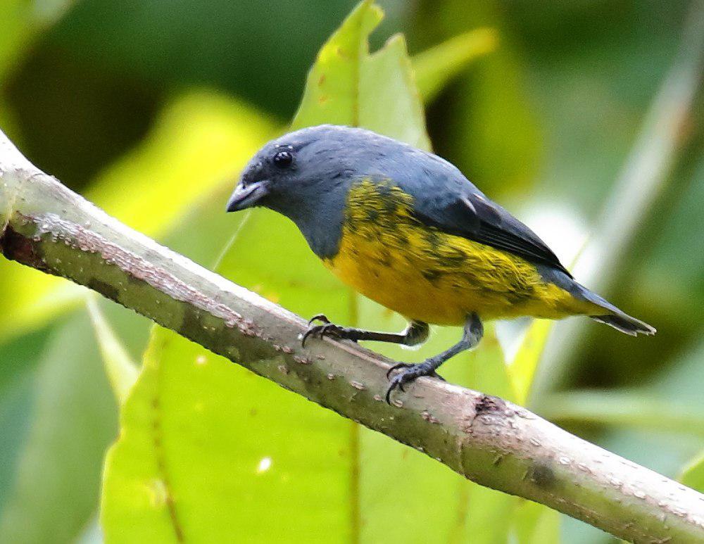
<path fill-rule="evenodd" d="M 88 286 L 467 479 L 634 542 L 704 541 L 704 495 L 522 407 L 423 378 L 389 406 L 389 361 L 329 339 L 301 348 L 300 317 L 109 217 L 0 132 L 0 249 Z"/>

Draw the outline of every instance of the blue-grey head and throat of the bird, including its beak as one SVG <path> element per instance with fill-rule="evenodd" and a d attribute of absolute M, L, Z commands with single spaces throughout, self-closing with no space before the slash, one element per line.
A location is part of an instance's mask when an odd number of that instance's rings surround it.
<path fill-rule="evenodd" d="M 296 223 L 315 253 L 332 256 L 337 253 L 352 180 L 383 175 L 378 159 L 393 155 L 396 146 L 405 144 L 368 130 L 336 125 L 284 134 L 249 161 L 227 211 L 252 206 L 275 210 Z"/>

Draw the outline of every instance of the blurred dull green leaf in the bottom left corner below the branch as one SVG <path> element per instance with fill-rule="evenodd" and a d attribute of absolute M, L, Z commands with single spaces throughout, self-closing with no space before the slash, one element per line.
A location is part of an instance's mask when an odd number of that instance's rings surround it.
<path fill-rule="evenodd" d="M 13 485 L 4 490 L 0 542 L 70 542 L 96 510 L 103 453 L 117 430 L 115 401 L 84 312 L 51 331 L 33 378 L 31 423 Z"/>

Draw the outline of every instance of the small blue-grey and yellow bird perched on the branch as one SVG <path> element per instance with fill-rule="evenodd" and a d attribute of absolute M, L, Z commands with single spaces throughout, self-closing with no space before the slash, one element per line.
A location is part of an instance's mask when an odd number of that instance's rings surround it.
<path fill-rule="evenodd" d="M 632 336 L 655 334 L 575 282 L 546 243 L 457 167 L 369 130 L 320 125 L 270 141 L 242 172 L 227 211 L 252 206 L 289 217 L 339 279 L 409 321 L 394 334 L 317 315 L 304 344 L 329 336 L 414 346 L 429 324 L 463 327 L 442 353 L 391 367 L 387 402 L 418 377 L 440 378 L 440 365 L 477 346 L 482 320 L 587 315 Z"/>

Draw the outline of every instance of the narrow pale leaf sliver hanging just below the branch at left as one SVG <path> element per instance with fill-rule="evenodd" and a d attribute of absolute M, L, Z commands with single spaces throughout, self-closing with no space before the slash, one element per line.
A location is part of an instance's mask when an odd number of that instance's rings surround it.
<path fill-rule="evenodd" d="M 101 312 L 94 295 L 86 297 L 86 307 L 103 358 L 105 372 L 118 403 L 122 405 L 134 382 L 137 381 L 139 369 L 130 358 L 125 346 L 122 346 L 118 337 L 115 336 L 115 331 Z"/>

